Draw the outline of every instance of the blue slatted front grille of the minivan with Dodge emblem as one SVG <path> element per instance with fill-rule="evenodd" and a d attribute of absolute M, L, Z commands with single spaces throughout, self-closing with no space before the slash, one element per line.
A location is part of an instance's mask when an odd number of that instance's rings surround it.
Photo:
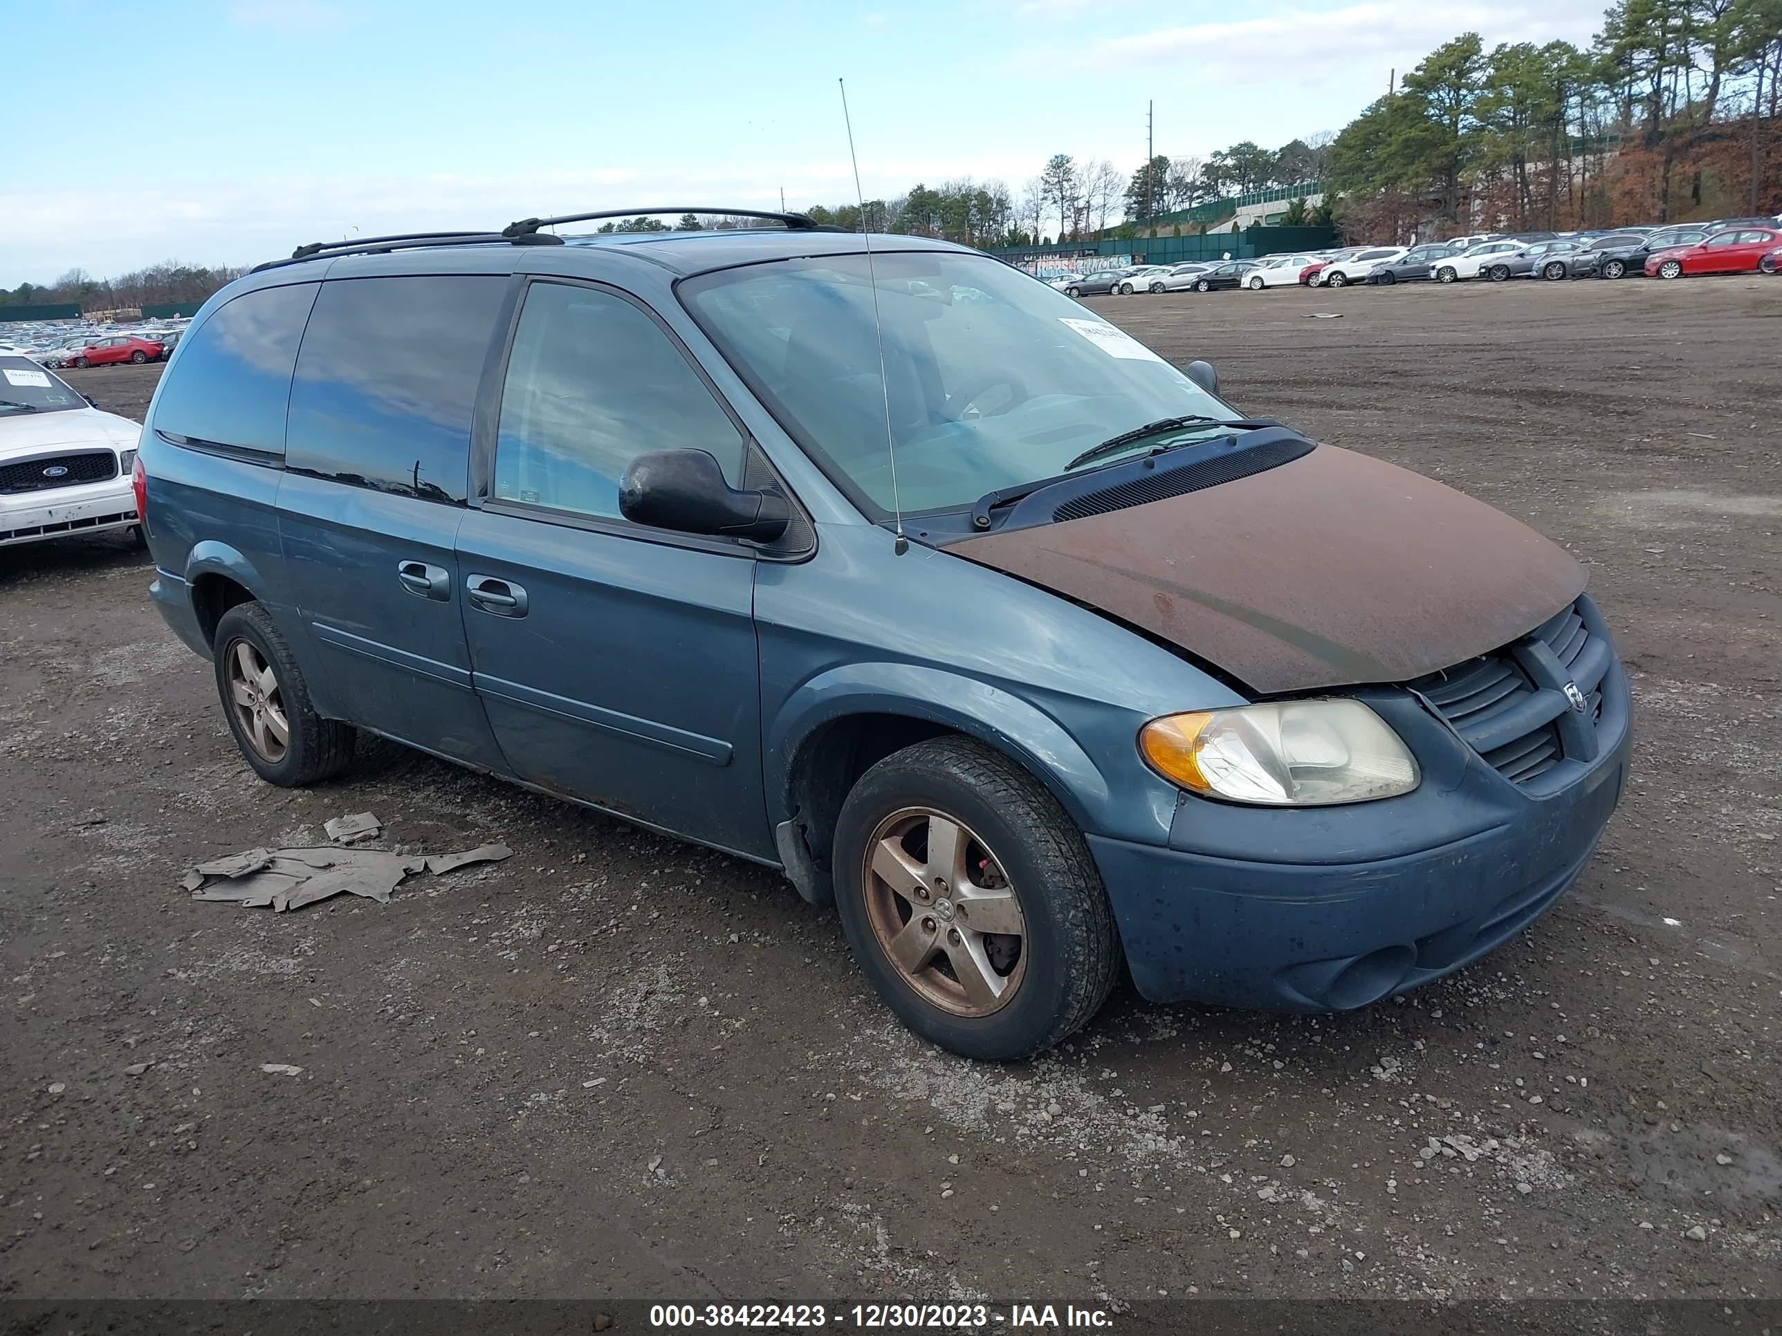
<path fill-rule="evenodd" d="M 1406 686 L 1511 784 L 1533 784 L 1565 761 L 1595 761 L 1609 641 L 1591 634 L 1579 599 L 1518 641 Z M 1584 698 L 1575 709 L 1566 686 Z"/>

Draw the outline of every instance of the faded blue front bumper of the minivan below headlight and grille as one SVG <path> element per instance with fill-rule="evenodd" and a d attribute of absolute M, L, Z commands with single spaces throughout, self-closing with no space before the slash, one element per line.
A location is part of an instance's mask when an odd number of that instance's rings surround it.
<path fill-rule="evenodd" d="M 1565 762 L 1559 787 L 1518 787 L 1402 693 L 1358 693 L 1417 754 L 1415 793 L 1320 809 L 1183 798 L 1171 848 L 1091 835 L 1139 992 L 1353 1010 L 1486 955 L 1577 880 L 1620 802 L 1620 664 L 1602 693 L 1600 750 Z"/>

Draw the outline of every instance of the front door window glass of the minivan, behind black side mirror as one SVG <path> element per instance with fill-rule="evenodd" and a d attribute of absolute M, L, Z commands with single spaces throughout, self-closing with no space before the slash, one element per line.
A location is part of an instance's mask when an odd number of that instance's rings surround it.
<path fill-rule="evenodd" d="M 741 486 L 745 440 L 686 356 L 624 297 L 533 283 L 508 358 L 495 499 L 620 518 L 647 451 L 707 451 Z"/>

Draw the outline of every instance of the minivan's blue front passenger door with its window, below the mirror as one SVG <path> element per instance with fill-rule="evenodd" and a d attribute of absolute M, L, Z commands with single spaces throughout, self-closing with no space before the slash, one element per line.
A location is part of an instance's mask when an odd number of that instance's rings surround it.
<path fill-rule="evenodd" d="M 772 859 L 754 552 L 618 513 L 625 467 L 661 449 L 709 451 L 741 486 L 747 436 L 658 319 L 535 280 L 458 531 L 476 691 L 520 778 Z"/>

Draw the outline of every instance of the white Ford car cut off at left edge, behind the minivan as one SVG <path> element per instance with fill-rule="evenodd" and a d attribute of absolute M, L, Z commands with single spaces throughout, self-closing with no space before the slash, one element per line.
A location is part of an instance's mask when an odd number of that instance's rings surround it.
<path fill-rule="evenodd" d="M 0 356 L 0 547 L 135 527 L 141 435 L 36 362 Z"/>

